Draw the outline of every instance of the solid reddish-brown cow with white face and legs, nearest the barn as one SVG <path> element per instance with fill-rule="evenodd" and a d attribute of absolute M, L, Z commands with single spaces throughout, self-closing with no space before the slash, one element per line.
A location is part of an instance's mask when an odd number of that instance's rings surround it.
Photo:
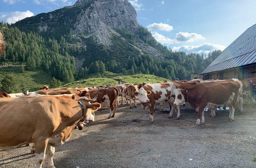
<path fill-rule="evenodd" d="M 175 94 L 174 105 L 182 105 L 188 102 L 191 107 L 198 108 L 196 124 L 204 124 L 203 110 L 207 105 L 229 106 L 229 119 L 234 120 L 234 109 L 237 108 L 238 92 L 240 84 L 232 79 L 215 82 L 197 83 L 193 87 L 178 89 Z"/>

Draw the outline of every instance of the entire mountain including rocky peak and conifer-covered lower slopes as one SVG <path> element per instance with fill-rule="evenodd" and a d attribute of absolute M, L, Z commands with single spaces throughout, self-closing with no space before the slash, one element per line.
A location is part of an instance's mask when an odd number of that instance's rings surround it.
<path fill-rule="evenodd" d="M 26 65 L 63 82 L 119 74 L 153 74 L 169 80 L 190 79 L 220 51 L 207 58 L 196 53 L 172 52 L 138 24 L 127 0 L 81 0 L 73 6 L 41 13 L 8 25 L 0 22 L 6 51 L 0 66 Z"/>

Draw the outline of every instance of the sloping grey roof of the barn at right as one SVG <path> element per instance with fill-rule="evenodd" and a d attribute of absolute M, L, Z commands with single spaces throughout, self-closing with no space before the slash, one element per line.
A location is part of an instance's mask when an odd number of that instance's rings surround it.
<path fill-rule="evenodd" d="M 256 24 L 249 27 L 224 49 L 202 73 L 222 71 L 252 63 L 256 63 Z"/>

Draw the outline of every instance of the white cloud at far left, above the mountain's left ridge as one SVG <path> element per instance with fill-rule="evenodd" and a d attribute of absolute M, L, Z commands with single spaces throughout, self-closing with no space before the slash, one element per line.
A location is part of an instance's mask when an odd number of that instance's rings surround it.
<path fill-rule="evenodd" d="M 1 14 L 1 13 L 0 13 Z M 10 12 L 10 13 L 3 13 L 1 15 L 2 20 L 8 22 L 8 23 L 15 23 L 18 20 L 22 20 L 26 17 L 34 16 L 33 12 L 30 12 L 29 10 L 25 12 Z"/>

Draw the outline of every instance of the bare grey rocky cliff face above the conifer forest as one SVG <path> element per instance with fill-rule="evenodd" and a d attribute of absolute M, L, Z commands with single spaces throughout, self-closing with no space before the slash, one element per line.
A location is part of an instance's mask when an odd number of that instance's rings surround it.
<path fill-rule="evenodd" d="M 127 57 L 131 54 L 152 53 L 153 56 L 161 58 L 158 50 L 145 43 L 145 38 L 139 39 L 138 30 L 141 26 L 136 18 L 136 11 L 127 0 L 79 0 L 73 6 L 41 13 L 14 25 L 23 31 L 45 33 L 52 38 L 73 38 L 75 40 L 71 41 L 78 41 L 85 47 L 90 46 L 93 39 L 93 43 L 100 44 L 105 50 L 111 50 L 113 47 L 129 50 Z M 134 32 L 137 32 L 136 38 L 127 39 L 118 30 L 125 30 L 129 36 L 134 36 Z M 148 32 L 146 38 L 154 39 Z M 90 45 L 87 39 L 90 39 Z M 125 54 L 124 51 L 118 54 Z M 106 51 L 106 54 L 113 52 Z M 112 55 L 109 55 L 109 58 L 113 58 Z"/>

